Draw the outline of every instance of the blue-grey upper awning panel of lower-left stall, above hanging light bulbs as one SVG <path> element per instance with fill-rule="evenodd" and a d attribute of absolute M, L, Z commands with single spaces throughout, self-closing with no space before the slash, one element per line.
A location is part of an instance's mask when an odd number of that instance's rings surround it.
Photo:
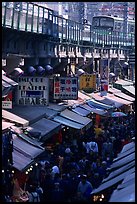
<path fill-rule="evenodd" d="M 40 155 L 44 150 L 39 147 L 33 146 L 23 139 L 15 136 L 13 138 L 13 149 L 20 152 L 30 159 L 35 159 L 38 155 Z"/>

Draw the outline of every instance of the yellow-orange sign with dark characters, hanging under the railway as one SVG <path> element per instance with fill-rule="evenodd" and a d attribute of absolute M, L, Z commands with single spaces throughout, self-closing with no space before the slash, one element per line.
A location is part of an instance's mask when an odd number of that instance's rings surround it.
<path fill-rule="evenodd" d="M 79 79 L 79 89 L 94 89 L 96 90 L 96 75 L 83 74 Z"/>

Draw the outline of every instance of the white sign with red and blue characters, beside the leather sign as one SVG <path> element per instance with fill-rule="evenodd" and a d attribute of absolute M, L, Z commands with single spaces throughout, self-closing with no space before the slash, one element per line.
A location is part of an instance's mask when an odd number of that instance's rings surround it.
<path fill-rule="evenodd" d="M 54 77 L 54 99 L 78 99 L 78 78 Z"/>

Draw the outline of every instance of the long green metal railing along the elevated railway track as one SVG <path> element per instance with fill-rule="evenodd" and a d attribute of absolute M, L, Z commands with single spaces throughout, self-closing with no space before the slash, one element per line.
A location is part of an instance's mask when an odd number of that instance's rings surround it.
<path fill-rule="evenodd" d="M 17 4 L 18 3 L 18 4 Z M 2 26 L 20 31 L 46 34 L 60 42 L 76 45 L 89 42 L 89 46 L 133 47 L 135 34 L 93 29 L 78 22 L 65 19 L 53 10 L 31 2 L 2 2 Z"/>

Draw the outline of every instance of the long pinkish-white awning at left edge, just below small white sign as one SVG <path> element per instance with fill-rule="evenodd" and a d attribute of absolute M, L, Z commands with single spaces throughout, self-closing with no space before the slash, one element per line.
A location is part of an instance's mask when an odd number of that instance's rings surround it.
<path fill-rule="evenodd" d="M 29 124 L 29 121 L 6 110 L 2 110 L 2 118 L 10 120 L 11 122 L 17 123 L 23 127 L 28 126 Z"/>

